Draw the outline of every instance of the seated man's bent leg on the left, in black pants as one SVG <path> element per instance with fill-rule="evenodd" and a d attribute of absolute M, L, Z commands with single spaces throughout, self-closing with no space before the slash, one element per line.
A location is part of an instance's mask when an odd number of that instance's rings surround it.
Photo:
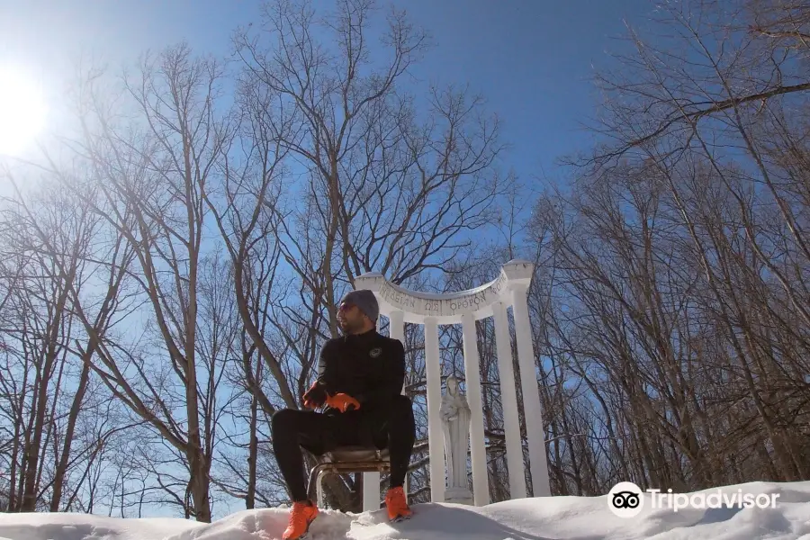
<path fill-rule="evenodd" d="M 301 445 L 328 451 L 327 442 L 338 417 L 312 410 L 277 410 L 271 420 L 273 452 L 293 502 L 307 499 Z"/>

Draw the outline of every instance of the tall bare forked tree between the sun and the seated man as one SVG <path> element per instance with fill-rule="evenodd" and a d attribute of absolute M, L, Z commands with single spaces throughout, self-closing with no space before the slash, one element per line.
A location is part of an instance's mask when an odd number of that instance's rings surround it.
<path fill-rule="evenodd" d="M 103 347 L 95 368 L 112 392 L 182 456 L 189 514 L 206 522 L 211 521 L 217 429 L 213 411 L 225 359 L 198 354 L 202 193 L 231 136 L 227 119 L 215 113 L 222 77 L 216 61 L 194 58 L 179 45 L 157 58 L 145 57 L 139 76 L 124 81 L 138 123 L 117 124 L 92 84 L 80 103 L 83 151 L 94 165 L 101 200 L 90 201 L 91 208 L 131 250 L 133 264 L 124 270 L 150 317 L 140 329 L 142 338 Z"/>

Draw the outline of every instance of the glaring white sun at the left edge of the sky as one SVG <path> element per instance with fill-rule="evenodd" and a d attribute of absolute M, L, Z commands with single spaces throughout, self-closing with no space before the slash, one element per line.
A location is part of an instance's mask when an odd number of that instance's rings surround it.
<path fill-rule="evenodd" d="M 45 115 L 39 85 L 21 71 L 0 66 L 0 157 L 17 155 L 31 144 Z"/>

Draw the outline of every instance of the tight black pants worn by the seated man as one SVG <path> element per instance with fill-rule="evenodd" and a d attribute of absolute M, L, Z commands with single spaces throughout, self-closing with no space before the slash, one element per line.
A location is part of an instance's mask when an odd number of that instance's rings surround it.
<path fill-rule="evenodd" d="M 323 414 L 313 410 L 278 410 L 272 420 L 273 451 L 294 502 L 307 500 L 302 446 L 322 455 L 338 446 L 388 448 L 392 488 L 405 483 L 416 440 L 413 407 L 398 396 L 384 410 L 349 410 Z"/>

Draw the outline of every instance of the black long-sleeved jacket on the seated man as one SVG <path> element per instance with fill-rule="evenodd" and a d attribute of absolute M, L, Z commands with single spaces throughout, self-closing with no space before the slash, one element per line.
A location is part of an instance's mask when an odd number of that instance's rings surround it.
<path fill-rule="evenodd" d="M 330 395 L 347 393 L 360 410 L 384 410 L 402 393 L 405 348 L 376 329 L 332 338 L 320 351 L 318 382 Z"/>

